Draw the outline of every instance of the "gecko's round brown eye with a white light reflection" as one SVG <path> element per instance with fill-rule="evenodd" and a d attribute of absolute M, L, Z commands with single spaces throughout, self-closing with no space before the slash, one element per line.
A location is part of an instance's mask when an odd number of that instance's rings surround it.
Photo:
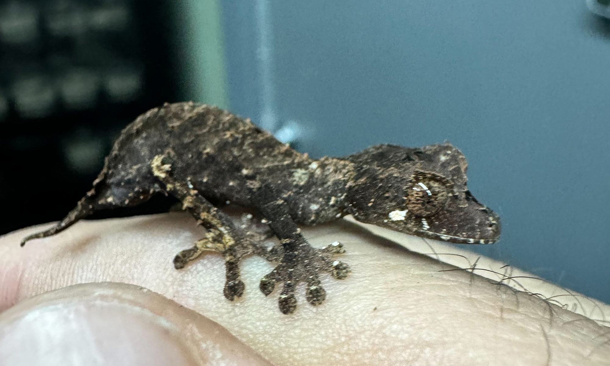
<path fill-rule="evenodd" d="M 445 206 L 449 192 L 446 182 L 422 175 L 415 174 L 407 187 L 407 209 L 417 217 L 429 217 Z"/>

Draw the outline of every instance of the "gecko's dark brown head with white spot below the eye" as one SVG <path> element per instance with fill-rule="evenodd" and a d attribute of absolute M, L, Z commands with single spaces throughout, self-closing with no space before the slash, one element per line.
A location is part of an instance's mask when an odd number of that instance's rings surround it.
<path fill-rule="evenodd" d="M 449 143 L 421 149 L 379 145 L 350 156 L 356 220 L 453 243 L 493 243 L 500 218 L 466 186 L 467 163 Z"/>

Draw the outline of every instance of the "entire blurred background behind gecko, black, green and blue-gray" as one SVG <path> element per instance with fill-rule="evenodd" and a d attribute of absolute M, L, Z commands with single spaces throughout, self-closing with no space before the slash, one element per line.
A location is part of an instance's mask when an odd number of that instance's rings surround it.
<path fill-rule="evenodd" d="M 127 123 L 192 99 L 315 157 L 449 140 L 503 220 L 468 249 L 610 302 L 609 62 L 584 1 L 0 0 L 0 234 L 60 220 Z"/>

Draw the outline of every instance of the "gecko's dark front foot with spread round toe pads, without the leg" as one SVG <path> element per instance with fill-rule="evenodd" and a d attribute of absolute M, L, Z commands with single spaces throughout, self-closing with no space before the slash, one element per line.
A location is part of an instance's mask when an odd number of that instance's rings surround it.
<path fill-rule="evenodd" d="M 260 291 L 269 295 L 278 282 L 284 286 L 279 294 L 279 310 L 290 314 L 296 309 L 296 286 L 306 282 L 306 300 L 312 305 L 319 305 L 326 300 L 326 290 L 320 284 L 319 274 L 323 271 L 334 278 L 344 279 L 350 273 L 350 266 L 334 259 L 334 254 L 345 253 L 343 245 L 334 242 L 325 248 L 313 248 L 304 240 L 284 240 L 282 246 L 272 251 L 281 252 L 281 263 L 273 271 L 260 279 Z"/>

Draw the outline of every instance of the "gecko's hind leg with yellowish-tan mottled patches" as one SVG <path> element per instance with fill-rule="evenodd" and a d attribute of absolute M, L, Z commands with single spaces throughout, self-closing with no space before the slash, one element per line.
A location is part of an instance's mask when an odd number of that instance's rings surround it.
<path fill-rule="evenodd" d="M 198 223 L 207 229 L 205 237 L 198 240 L 195 246 L 181 251 L 174 257 L 174 267 L 183 268 L 204 251 L 222 254 L 226 271 L 224 297 L 231 301 L 235 300 L 236 297 L 243 295 L 245 287 L 239 278 L 240 260 L 249 254 L 261 254 L 264 249 L 246 239 L 231 217 L 213 206 L 196 190 L 188 187 L 188 182 L 174 179 L 171 176 L 171 165 L 171 157 L 158 155 L 151 162 L 152 173 L 165 184 L 165 190 L 168 193 L 182 202 L 182 209 L 190 212 Z"/>

